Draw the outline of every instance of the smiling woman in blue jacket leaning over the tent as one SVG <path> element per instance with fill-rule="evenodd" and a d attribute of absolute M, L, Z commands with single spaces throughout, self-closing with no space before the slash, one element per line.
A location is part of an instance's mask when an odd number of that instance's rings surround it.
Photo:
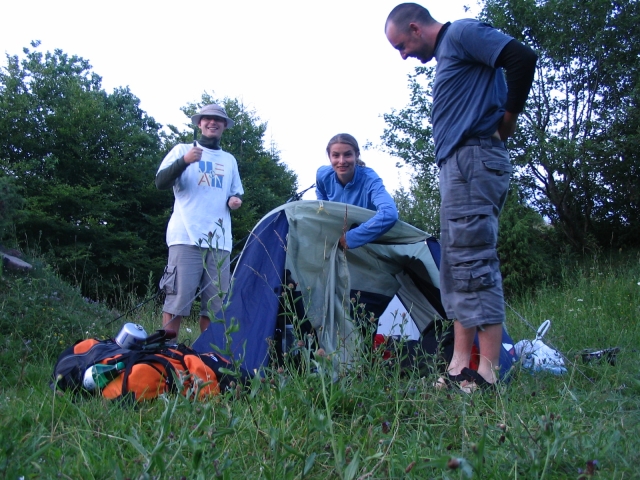
<path fill-rule="evenodd" d="M 347 203 L 376 212 L 365 223 L 344 233 L 340 246 L 346 250 L 377 240 L 398 220 L 398 209 L 382 179 L 360 160 L 358 142 L 348 133 L 339 133 L 329 140 L 327 155 L 331 165 L 320 167 L 316 173 L 318 200 Z"/>

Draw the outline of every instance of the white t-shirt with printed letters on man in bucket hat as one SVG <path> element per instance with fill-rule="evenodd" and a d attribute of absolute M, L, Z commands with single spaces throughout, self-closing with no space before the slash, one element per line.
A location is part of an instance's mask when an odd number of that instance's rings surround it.
<path fill-rule="evenodd" d="M 190 164 L 173 185 L 175 202 L 167 226 L 167 245 L 203 248 L 211 245 L 230 252 L 233 245 L 227 201 L 232 195 L 244 193 L 238 164 L 230 153 L 198 146 L 202 148 L 202 158 Z M 191 148 L 190 144 L 176 145 L 158 171 L 172 165 Z"/>

